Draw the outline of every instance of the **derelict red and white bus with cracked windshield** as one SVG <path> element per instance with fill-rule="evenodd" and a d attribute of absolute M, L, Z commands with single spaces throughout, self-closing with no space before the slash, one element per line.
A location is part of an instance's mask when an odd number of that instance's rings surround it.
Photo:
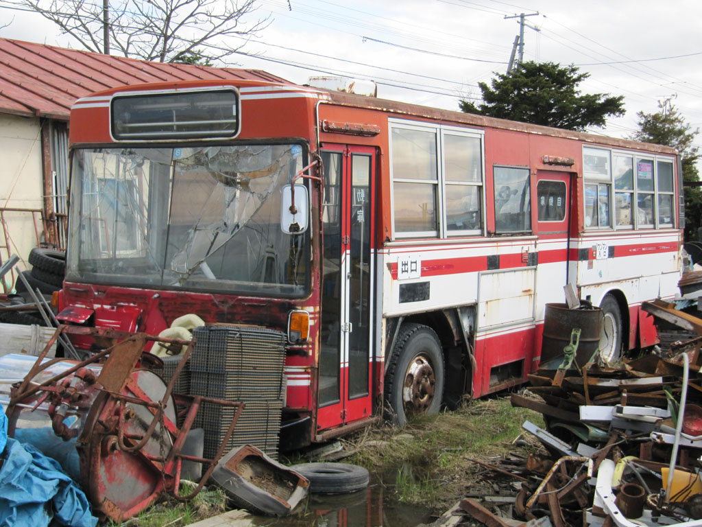
<path fill-rule="evenodd" d="M 524 382 L 569 283 L 608 360 L 654 344 L 640 306 L 677 291 L 660 145 L 246 80 L 95 93 L 70 143 L 60 307 L 286 332 L 283 447 Z"/>

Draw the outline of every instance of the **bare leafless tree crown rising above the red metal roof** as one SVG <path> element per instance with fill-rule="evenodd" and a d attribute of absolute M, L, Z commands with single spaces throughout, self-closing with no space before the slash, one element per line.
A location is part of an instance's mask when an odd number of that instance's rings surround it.
<path fill-rule="evenodd" d="M 22 0 L 54 22 L 86 50 L 104 49 L 102 2 Z M 125 57 L 158 62 L 185 58 L 223 60 L 267 27 L 269 16 L 253 18 L 258 0 L 126 0 L 110 5 L 110 48 Z"/>

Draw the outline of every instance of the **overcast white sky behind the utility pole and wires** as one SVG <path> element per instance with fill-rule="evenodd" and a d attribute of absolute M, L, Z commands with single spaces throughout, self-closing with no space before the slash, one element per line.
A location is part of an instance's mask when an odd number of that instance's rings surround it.
<path fill-rule="evenodd" d="M 0 23 L 11 22 L 0 37 L 79 47 L 41 16 L 8 8 L 18 1 L 0 0 Z M 519 13 L 538 13 L 526 18 L 525 60 L 575 64 L 590 73 L 583 93 L 625 97 L 626 115 L 591 131 L 628 137 L 636 113 L 666 98 L 702 127 L 701 0 L 260 0 L 254 16 L 270 25 L 242 49 L 260 57 L 227 65 L 298 84 L 373 79 L 380 97 L 457 110 L 461 97 L 479 98 L 477 82 L 505 72 L 519 33 L 519 19 L 505 16 Z"/>

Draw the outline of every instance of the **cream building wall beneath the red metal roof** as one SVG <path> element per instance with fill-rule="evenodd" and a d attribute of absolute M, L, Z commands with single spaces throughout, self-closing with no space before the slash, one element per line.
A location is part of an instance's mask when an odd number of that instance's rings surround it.
<path fill-rule="evenodd" d="M 0 114 L 0 208 L 42 209 L 43 195 L 41 122 L 37 118 Z M 8 254 L 17 254 L 20 262 L 15 269 L 27 269 L 29 251 L 37 247 L 32 214 L 4 212 L 4 218 L 9 239 L 0 229 L 0 259 L 4 262 Z M 37 227 L 42 235 L 39 215 Z"/>

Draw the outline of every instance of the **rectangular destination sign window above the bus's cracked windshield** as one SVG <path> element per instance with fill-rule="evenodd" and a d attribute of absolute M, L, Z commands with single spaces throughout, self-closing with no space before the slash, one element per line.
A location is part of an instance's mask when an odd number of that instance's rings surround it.
<path fill-rule="evenodd" d="M 112 99 L 116 139 L 232 138 L 239 134 L 234 89 L 124 95 Z"/>

